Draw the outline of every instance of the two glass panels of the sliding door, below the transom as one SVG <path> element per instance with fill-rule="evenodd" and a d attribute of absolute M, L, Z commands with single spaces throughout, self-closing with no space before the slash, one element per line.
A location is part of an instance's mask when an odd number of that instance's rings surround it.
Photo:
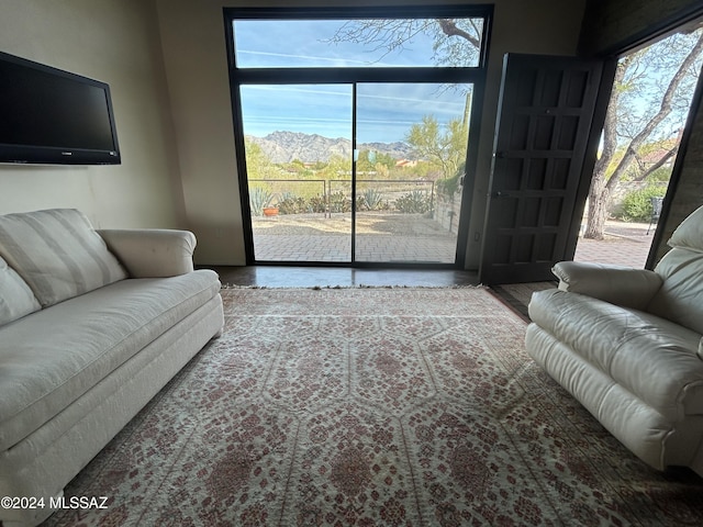
<path fill-rule="evenodd" d="M 471 83 L 239 93 L 254 262 L 456 265 Z"/>

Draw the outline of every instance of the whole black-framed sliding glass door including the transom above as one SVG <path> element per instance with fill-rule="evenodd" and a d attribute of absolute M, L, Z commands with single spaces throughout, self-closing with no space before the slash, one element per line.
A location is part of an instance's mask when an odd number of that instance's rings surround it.
<path fill-rule="evenodd" d="M 460 264 L 490 11 L 332 11 L 225 10 L 247 261 Z"/>

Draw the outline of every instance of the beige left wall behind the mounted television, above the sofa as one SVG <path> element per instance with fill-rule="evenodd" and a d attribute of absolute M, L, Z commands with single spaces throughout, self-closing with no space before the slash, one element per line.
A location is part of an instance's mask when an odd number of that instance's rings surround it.
<path fill-rule="evenodd" d="M 78 208 L 97 226 L 183 225 L 156 10 L 143 0 L 2 0 L 0 51 L 110 85 L 122 165 L 0 165 L 0 213 Z"/>

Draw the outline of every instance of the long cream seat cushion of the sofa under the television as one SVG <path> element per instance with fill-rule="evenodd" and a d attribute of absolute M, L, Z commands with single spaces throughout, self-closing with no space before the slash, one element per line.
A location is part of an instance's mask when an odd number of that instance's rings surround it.
<path fill-rule="evenodd" d="M 57 415 L 214 298 L 211 270 L 130 279 L 0 329 L 0 450 Z"/>

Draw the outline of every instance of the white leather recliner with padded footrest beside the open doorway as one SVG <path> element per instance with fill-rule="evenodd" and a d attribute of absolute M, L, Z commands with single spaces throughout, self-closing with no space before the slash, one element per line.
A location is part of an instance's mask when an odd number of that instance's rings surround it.
<path fill-rule="evenodd" d="M 703 475 L 703 208 L 654 271 L 565 261 L 527 352 L 636 456 Z"/>

